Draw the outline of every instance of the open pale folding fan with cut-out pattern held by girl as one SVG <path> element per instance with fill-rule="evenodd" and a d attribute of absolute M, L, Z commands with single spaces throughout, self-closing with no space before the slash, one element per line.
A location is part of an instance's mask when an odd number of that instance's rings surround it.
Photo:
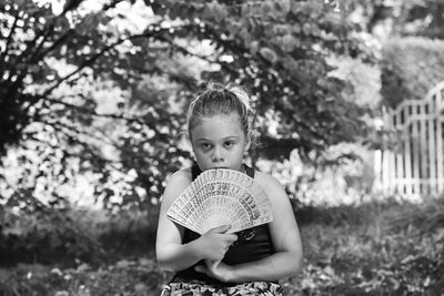
<path fill-rule="evenodd" d="M 174 201 L 168 217 L 199 234 L 230 224 L 235 233 L 273 220 L 270 200 L 250 176 L 228 169 L 201 173 Z"/>

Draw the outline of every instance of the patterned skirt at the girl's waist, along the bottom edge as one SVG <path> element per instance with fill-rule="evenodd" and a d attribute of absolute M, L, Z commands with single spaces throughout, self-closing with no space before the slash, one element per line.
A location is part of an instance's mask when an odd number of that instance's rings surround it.
<path fill-rule="evenodd" d="M 251 282 L 235 286 L 219 286 L 203 284 L 201 282 L 170 283 L 161 296 L 241 296 L 241 295 L 263 295 L 282 296 L 282 287 L 275 283 Z"/>

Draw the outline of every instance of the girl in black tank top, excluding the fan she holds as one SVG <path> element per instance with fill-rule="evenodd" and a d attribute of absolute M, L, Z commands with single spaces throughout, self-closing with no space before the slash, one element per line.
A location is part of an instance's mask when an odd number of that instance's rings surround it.
<path fill-rule="evenodd" d="M 251 126 L 249 96 L 239 86 L 210 84 L 191 102 L 188 135 L 196 164 L 170 177 L 159 216 L 158 262 L 176 272 L 162 295 L 281 295 L 278 280 L 301 268 L 301 237 L 285 191 L 243 164 Z M 236 234 L 222 225 L 203 235 L 171 222 L 167 211 L 174 200 L 202 171 L 215 167 L 253 177 L 271 201 L 273 221 Z"/>

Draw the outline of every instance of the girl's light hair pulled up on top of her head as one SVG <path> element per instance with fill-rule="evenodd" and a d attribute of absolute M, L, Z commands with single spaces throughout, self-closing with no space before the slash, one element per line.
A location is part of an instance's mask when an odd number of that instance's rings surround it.
<path fill-rule="evenodd" d="M 222 85 L 210 82 L 206 89 L 194 98 L 188 110 L 188 134 L 191 140 L 191 130 L 199 124 L 203 116 L 229 115 L 236 112 L 241 129 L 246 139 L 253 140 L 253 111 L 246 91 L 238 85 Z M 253 142 L 253 141 L 252 141 Z"/>

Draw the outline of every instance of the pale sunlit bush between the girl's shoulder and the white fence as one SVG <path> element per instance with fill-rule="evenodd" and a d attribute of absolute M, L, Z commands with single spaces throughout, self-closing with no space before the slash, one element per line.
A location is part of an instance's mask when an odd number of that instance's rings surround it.
<path fill-rule="evenodd" d="M 320 153 L 287 160 L 260 160 L 258 167 L 270 172 L 285 187 L 291 200 L 303 205 L 360 204 L 371 197 L 375 173 L 374 152 L 363 144 L 341 143 Z"/>

